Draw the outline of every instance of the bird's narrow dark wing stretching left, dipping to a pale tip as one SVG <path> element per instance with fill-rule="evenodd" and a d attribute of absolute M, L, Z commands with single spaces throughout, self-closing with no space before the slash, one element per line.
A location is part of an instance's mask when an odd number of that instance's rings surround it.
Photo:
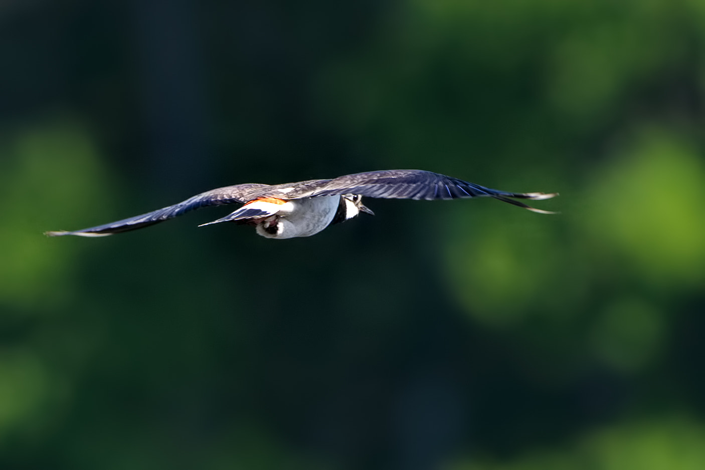
<path fill-rule="evenodd" d="M 83 230 L 73 231 L 56 231 L 47 232 L 45 235 L 50 237 L 59 237 L 61 235 L 79 235 L 81 237 L 104 237 L 113 235 L 114 233 L 128 232 L 137 228 L 148 227 L 155 223 L 164 222 L 170 218 L 178 217 L 182 214 L 200 209 L 207 206 L 223 206 L 225 204 L 242 204 L 250 201 L 255 197 L 259 197 L 265 188 L 269 185 L 261 185 L 258 183 L 245 183 L 244 185 L 234 185 L 219 187 L 216 190 L 210 190 L 196 194 L 185 201 L 166 206 L 156 211 L 147 212 L 139 216 L 123 218 L 121 221 L 97 225 L 95 227 L 84 228 Z"/>

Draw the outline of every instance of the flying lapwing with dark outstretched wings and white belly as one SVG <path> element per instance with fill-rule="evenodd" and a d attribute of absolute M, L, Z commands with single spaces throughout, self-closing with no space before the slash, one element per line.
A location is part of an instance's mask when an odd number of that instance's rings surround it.
<path fill-rule="evenodd" d="M 558 193 L 505 192 L 468 183 L 450 176 L 423 170 L 381 170 L 343 175 L 328 180 L 307 180 L 281 185 L 245 183 L 219 187 L 196 194 L 185 201 L 156 211 L 96 225 L 82 230 L 58 230 L 44 234 L 50 237 L 78 235 L 104 237 L 115 233 L 145 228 L 207 206 L 243 204 L 237 210 L 215 221 L 199 225 L 235 222 L 254 225 L 258 235 L 278 240 L 309 237 L 329 225 L 355 218 L 360 213 L 374 216 L 362 204 L 363 197 L 378 199 L 466 199 L 492 197 L 539 214 L 556 214 L 534 209 L 515 199 L 539 201 Z"/>

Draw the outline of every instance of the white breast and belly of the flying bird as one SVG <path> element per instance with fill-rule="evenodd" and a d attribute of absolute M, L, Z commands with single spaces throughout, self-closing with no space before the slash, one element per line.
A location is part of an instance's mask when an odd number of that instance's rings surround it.
<path fill-rule="evenodd" d="M 295 238 L 316 235 L 333 221 L 338 210 L 340 196 L 321 196 L 309 199 L 293 199 L 288 214 L 278 214 L 276 233 L 257 225 L 257 233 L 267 238 Z"/>

